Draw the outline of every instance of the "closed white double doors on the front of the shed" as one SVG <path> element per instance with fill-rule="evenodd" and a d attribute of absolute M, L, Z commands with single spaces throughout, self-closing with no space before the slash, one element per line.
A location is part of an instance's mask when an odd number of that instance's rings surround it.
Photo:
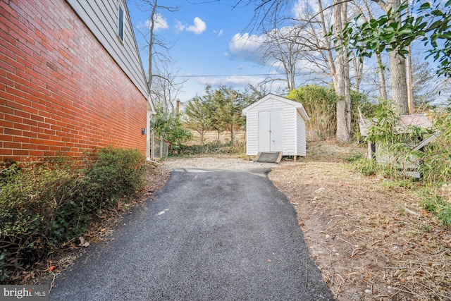
<path fill-rule="evenodd" d="M 282 152 L 283 110 L 259 112 L 259 152 Z"/>

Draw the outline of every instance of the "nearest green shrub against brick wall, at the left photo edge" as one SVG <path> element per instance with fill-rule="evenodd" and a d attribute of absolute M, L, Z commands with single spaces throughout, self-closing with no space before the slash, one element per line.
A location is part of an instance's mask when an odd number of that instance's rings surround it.
<path fill-rule="evenodd" d="M 20 266 L 41 259 L 56 243 L 82 232 L 80 211 L 72 202 L 78 185 L 73 169 L 49 161 L 1 164 L 0 182 L 0 280 Z M 65 219 L 64 226 L 58 221 Z M 87 219 L 85 219 L 87 221 Z"/>

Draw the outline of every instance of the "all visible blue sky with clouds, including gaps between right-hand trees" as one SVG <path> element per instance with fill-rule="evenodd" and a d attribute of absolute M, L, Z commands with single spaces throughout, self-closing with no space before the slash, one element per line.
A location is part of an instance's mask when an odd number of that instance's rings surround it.
<path fill-rule="evenodd" d="M 132 25 L 135 27 L 135 36 L 138 47 L 145 44 L 145 40 L 137 30 L 145 30 L 149 22 L 149 12 L 143 12 L 134 3 L 144 2 L 142 0 L 128 0 L 128 9 Z M 254 16 L 254 6 L 241 5 L 233 8 L 237 0 L 159 0 L 160 6 L 179 6 L 178 11 L 159 11 L 156 34 L 163 37 L 167 42 L 173 44 L 170 49 L 171 58 L 174 61 L 173 70 L 178 70 L 179 76 L 190 77 L 185 82 L 182 92 L 178 98 L 182 102 L 187 102 L 196 94 L 202 95 L 205 86 L 226 85 L 236 90 L 242 90 L 246 85 L 257 85 L 262 82 L 266 75 L 283 73 L 277 70 L 277 65 L 262 65 L 257 59 L 255 51 L 265 38 L 261 32 L 249 31 L 249 24 Z M 246 2 L 246 1 L 243 1 Z M 329 1 L 323 2 L 328 3 Z M 317 11 L 316 1 L 293 0 L 290 12 L 297 15 L 298 11 L 309 8 Z M 374 6 L 375 11 L 381 8 Z M 420 49 L 422 42 L 417 42 L 416 49 Z M 419 52 L 419 59 L 424 59 L 424 50 L 416 49 Z M 388 57 L 383 55 L 384 61 L 388 64 Z M 373 63 L 371 63 L 373 61 Z M 147 70 L 147 52 L 142 51 L 142 63 L 144 70 Z M 432 66 L 435 66 L 432 63 Z M 324 75 L 317 67 L 311 63 L 299 61 L 296 84 L 313 83 L 321 80 Z M 319 74 L 314 73 L 314 71 Z M 376 63 L 373 59 L 366 61 L 365 82 L 361 88 L 369 94 L 377 94 L 377 85 L 371 82 L 378 75 L 374 74 Z M 280 76 L 278 76 L 280 78 Z M 180 78 L 180 81 L 183 78 Z M 185 78 L 186 79 L 186 78 Z M 323 78 L 330 82 L 330 78 Z M 364 80 L 365 81 L 365 80 Z M 266 85 L 266 92 L 278 93 L 280 86 L 286 85 L 283 82 L 273 82 Z M 447 93 L 449 94 L 449 92 Z M 442 94 L 443 97 L 444 94 Z"/>

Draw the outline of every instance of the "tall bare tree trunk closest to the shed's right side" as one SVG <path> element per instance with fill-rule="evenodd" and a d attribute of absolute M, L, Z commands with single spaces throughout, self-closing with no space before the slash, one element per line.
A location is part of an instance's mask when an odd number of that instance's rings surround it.
<path fill-rule="evenodd" d="M 335 13 L 335 37 L 337 37 L 337 44 L 335 47 L 341 47 L 342 41 L 340 33 L 342 32 L 342 0 L 334 0 Z M 343 49 L 337 51 L 335 56 L 335 93 L 337 94 L 337 133 L 336 137 L 340 142 L 349 142 L 350 133 L 347 129 L 346 120 L 346 97 L 345 97 L 345 56 Z M 347 63 L 347 62 L 346 62 Z"/>

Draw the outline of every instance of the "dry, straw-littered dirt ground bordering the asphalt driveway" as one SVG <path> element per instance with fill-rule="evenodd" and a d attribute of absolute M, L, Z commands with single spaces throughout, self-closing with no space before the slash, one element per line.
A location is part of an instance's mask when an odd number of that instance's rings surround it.
<path fill-rule="evenodd" d="M 249 157 L 167 159 L 154 164 L 142 202 L 168 180 L 172 168 L 249 170 L 273 168 L 270 180 L 297 211 L 311 256 L 337 300 L 451 300 L 451 233 L 422 210 L 410 190 L 378 176 L 352 171 L 345 158 L 363 145 L 312 142 L 299 162 L 260 164 Z M 109 240 L 109 223 L 93 225 L 90 243 Z M 55 276 L 82 250 L 42 263 L 41 276 Z M 42 277 L 41 277 L 42 279 Z M 39 275 L 25 283 L 39 283 Z"/>

